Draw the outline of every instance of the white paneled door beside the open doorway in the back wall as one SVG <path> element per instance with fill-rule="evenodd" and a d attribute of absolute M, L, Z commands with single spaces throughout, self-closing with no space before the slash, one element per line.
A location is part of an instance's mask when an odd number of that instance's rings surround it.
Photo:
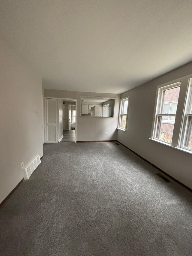
<path fill-rule="evenodd" d="M 57 103 L 56 99 L 46 99 L 46 143 L 57 142 Z"/>

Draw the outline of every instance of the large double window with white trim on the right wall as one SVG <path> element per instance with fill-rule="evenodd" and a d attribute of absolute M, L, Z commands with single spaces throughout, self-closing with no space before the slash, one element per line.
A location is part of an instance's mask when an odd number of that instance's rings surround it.
<path fill-rule="evenodd" d="M 192 153 L 191 76 L 158 86 L 153 140 Z"/>

